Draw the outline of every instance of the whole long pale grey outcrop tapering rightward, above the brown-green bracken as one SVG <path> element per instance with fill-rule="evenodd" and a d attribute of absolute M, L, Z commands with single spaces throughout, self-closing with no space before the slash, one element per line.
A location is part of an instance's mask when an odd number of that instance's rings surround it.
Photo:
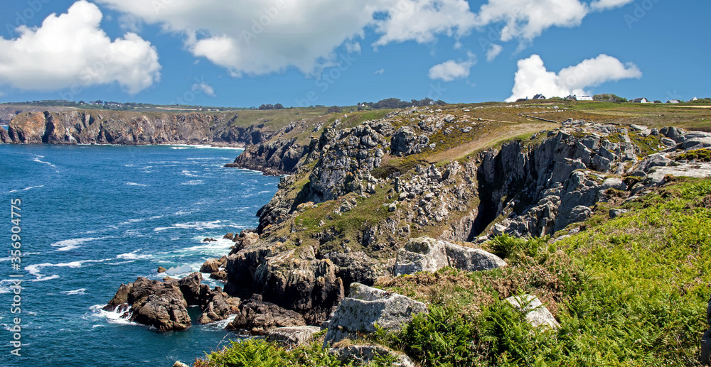
<path fill-rule="evenodd" d="M 501 268 L 506 266 L 506 262 L 480 248 L 469 248 L 447 241 L 420 237 L 410 239 L 397 251 L 393 273 L 395 275 L 419 271 L 432 273 L 446 266 L 466 271 L 481 271 Z"/>

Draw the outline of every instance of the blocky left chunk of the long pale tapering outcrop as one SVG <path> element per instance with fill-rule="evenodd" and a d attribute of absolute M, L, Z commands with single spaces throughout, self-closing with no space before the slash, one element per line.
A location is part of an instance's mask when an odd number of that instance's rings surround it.
<path fill-rule="evenodd" d="M 397 251 L 395 275 L 412 274 L 418 271 L 435 271 L 449 265 L 447 261 L 447 243 L 429 237 L 410 239 Z"/>

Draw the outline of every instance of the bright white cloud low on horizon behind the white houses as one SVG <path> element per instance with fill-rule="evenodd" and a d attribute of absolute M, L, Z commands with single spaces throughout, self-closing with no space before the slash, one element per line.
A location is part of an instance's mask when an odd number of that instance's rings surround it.
<path fill-rule="evenodd" d="M 512 94 L 506 101 L 530 98 L 535 94 L 543 94 L 549 98 L 588 94 L 584 88 L 596 87 L 609 81 L 641 77 L 642 72 L 633 63 L 623 64 L 615 57 L 604 54 L 566 67 L 556 74 L 546 70 L 543 60 L 534 54 L 527 59 L 518 60 Z"/>

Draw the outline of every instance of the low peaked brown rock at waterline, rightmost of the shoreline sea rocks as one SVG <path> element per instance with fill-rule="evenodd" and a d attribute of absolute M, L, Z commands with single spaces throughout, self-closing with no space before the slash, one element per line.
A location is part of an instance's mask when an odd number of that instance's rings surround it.
<path fill-rule="evenodd" d="M 264 335 L 275 327 L 301 326 L 306 326 L 306 320 L 301 314 L 264 302 L 262 296 L 254 295 L 242 302 L 240 312 L 226 329 L 246 329 L 254 335 Z"/>

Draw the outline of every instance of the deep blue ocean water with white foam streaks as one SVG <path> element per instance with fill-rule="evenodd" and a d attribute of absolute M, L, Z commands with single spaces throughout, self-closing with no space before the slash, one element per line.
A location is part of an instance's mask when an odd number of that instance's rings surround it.
<path fill-rule="evenodd" d="M 226 322 L 159 333 L 101 307 L 121 283 L 162 279 L 159 265 L 197 271 L 229 252 L 225 233 L 257 226 L 255 213 L 279 179 L 223 168 L 239 153 L 0 144 L 0 366 L 172 366 L 237 339 Z M 22 201 L 18 271 L 9 257 L 11 199 Z M 21 314 L 11 313 L 11 274 L 23 275 Z M 21 357 L 10 354 L 18 316 Z"/>

